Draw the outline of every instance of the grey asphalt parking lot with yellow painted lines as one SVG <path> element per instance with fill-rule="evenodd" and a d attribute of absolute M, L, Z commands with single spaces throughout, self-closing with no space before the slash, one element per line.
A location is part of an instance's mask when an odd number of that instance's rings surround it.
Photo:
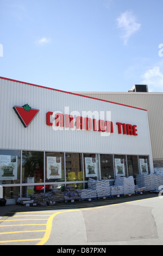
<path fill-rule="evenodd" d="M 162 214 L 156 193 L 47 207 L 6 205 L 0 208 L 0 244 L 162 245 Z"/>

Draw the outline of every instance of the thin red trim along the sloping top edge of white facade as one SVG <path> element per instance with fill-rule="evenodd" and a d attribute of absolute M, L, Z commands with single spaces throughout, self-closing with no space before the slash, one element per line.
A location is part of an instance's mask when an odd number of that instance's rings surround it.
<path fill-rule="evenodd" d="M 85 96 L 85 95 L 81 95 L 81 94 L 77 94 L 77 93 L 65 92 L 64 90 L 53 89 L 53 88 L 49 88 L 49 87 L 45 87 L 45 86 L 38 86 L 37 84 L 17 81 L 17 80 L 13 80 L 13 79 L 2 77 L 2 76 L 0 76 L 0 79 L 12 81 L 12 82 L 17 82 L 17 83 L 24 83 L 24 84 L 28 84 L 29 86 L 41 87 L 41 88 L 45 88 L 45 89 L 49 89 L 49 90 L 55 90 L 55 91 L 61 92 L 61 93 L 68 93 L 68 94 L 77 95 L 77 96 L 80 96 L 80 97 L 87 97 L 87 98 L 93 99 L 93 100 L 100 100 L 100 101 L 104 101 L 104 102 L 113 103 L 113 104 L 116 104 L 116 105 L 121 105 L 121 106 L 125 106 L 125 107 L 131 107 L 131 108 L 136 108 L 136 109 L 140 109 L 140 110 L 143 110 L 143 111 L 147 111 L 147 109 L 143 109 L 143 108 L 139 108 L 139 107 L 133 107 L 133 106 L 129 106 L 129 105 L 124 105 L 122 103 L 117 103 L 117 102 L 108 101 L 108 100 L 102 100 L 102 99 L 98 99 L 98 98 L 95 98 L 95 97 Z"/>

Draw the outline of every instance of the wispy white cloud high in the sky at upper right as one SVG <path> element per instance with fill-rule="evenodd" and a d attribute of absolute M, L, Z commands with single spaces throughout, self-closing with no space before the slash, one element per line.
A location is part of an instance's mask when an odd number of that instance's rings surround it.
<path fill-rule="evenodd" d="M 136 23 L 135 16 L 131 11 L 122 13 L 120 17 L 118 17 L 117 22 L 118 28 L 121 28 L 123 31 L 123 35 L 121 37 L 124 41 L 124 44 L 126 45 L 130 36 L 136 31 L 139 31 L 141 24 Z"/>

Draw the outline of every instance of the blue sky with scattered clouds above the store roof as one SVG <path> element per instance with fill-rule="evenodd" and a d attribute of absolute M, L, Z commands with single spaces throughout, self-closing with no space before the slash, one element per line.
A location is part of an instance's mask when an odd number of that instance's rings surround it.
<path fill-rule="evenodd" d="M 162 10 L 163 0 L 0 0 L 0 76 L 68 92 L 163 92 Z"/>

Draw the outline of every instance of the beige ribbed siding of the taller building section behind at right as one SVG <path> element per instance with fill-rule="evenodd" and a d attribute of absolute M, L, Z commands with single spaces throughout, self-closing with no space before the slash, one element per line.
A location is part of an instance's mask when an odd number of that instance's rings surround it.
<path fill-rule="evenodd" d="M 147 109 L 153 159 L 163 159 L 163 93 L 81 93 Z"/>

